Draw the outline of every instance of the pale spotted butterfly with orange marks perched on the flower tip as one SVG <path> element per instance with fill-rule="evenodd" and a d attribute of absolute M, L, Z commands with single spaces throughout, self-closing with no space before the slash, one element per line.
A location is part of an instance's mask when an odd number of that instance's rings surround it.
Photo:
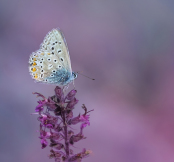
<path fill-rule="evenodd" d="M 72 72 L 68 46 L 60 29 L 52 29 L 40 49 L 29 58 L 29 72 L 36 82 L 68 85 L 77 73 Z"/>

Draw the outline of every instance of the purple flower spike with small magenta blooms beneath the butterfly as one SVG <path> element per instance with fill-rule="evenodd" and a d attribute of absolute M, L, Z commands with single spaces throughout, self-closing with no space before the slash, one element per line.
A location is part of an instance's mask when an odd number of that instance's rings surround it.
<path fill-rule="evenodd" d="M 83 129 L 90 125 L 90 116 L 87 114 L 90 111 L 83 104 L 84 114 L 73 117 L 73 110 L 79 101 L 75 97 L 77 91 L 73 89 L 64 95 L 63 89 L 58 86 L 54 91 L 55 95 L 48 99 L 40 93 L 33 93 L 41 97 L 35 108 L 37 113 L 33 113 L 39 115 L 41 148 L 50 147 L 49 157 L 55 162 L 81 162 L 91 151 L 83 149 L 82 152 L 74 154 L 70 147 L 86 138 Z M 71 125 L 78 123 L 81 123 L 80 132 L 76 134 L 71 130 Z"/>

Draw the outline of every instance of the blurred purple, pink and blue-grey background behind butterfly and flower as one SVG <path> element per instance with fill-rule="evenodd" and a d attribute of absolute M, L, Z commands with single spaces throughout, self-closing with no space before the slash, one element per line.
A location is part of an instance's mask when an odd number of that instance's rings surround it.
<path fill-rule="evenodd" d="M 1 0 L 0 161 L 54 161 L 30 114 L 32 92 L 48 97 L 55 86 L 34 83 L 28 59 L 59 27 L 73 71 L 96 79 L 75 81 L 75 115 L 83 103 L 95 109 L 75 152 L 93 151 L 84 162 L 173 162 L 173 8 L 172 0 Z"/>

